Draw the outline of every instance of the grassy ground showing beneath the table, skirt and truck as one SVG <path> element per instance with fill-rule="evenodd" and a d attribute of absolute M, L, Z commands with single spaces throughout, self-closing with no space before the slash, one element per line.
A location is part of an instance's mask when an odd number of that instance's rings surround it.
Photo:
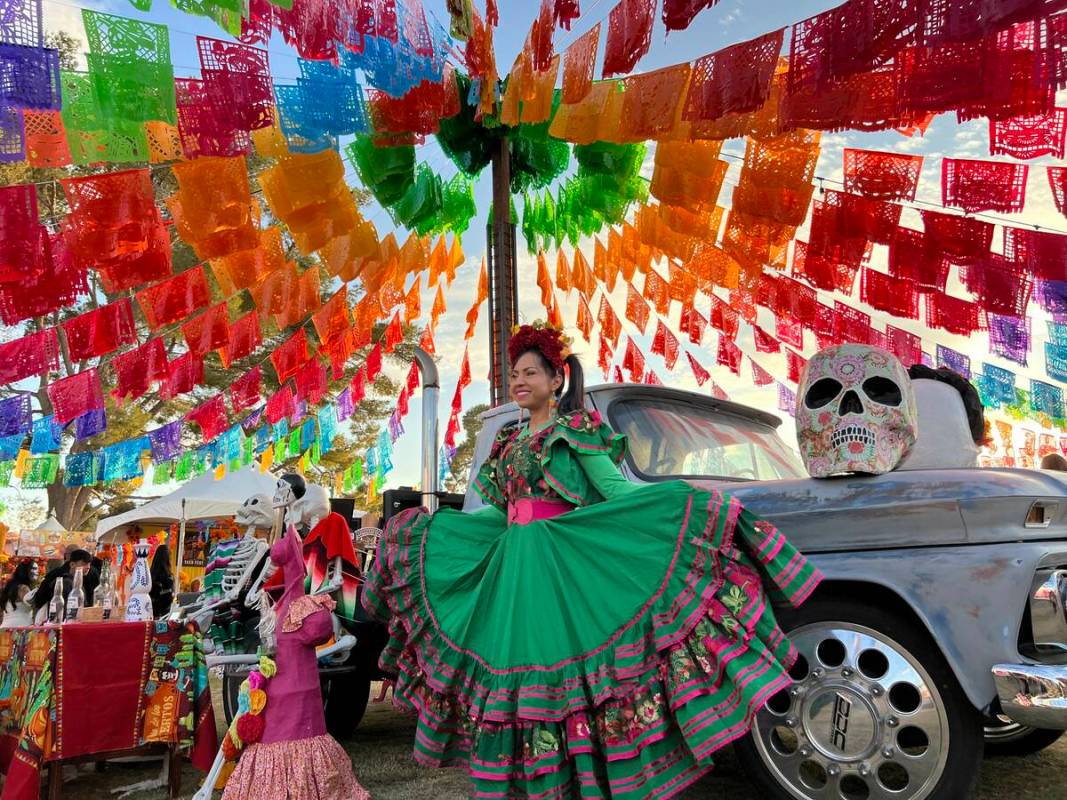
<path fill-rule="evenodd" d="M 377 689 L 376 689 L 377 693 Z M 373 695 L 372 695 L 373 697 Z M 389 704 L 372 704 L 355 736 L 345 742 L 355 774 L 375 800 L 464 800 L 466 778 L 460 770 L 432 770 L 411 758 L 414 723 L 396 714 Z M 109 765 L 103 772 L 92 768 L 66 784 L 68 800 L 105 800 L 111 789 L 156 777 L 159 762 Z M 197 777 L 187 766 L 182 773 L 184 797 L 197 788 Z M 1067 791 L 1067 737 L 1029 758 L 988 758 L 982 768 L 976 800 L 1049 800 Z M 1058 788 L 1053 788 L 1058 787 Z M 217 796 L 218 797 L 218 796 Z M 745 780 L 733 752 L 727 750 L 716 771 L 687 795 L 692 800 L 760 800 Z M 163 800 L 162 790 L 140 791 L 129 800 Z"/>

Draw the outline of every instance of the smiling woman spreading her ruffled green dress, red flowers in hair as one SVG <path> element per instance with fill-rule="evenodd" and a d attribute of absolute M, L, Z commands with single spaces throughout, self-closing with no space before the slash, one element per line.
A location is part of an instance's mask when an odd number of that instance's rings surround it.
<path fill-rule="evenodd" d="M 364 589 L 415 758 L 465 765 L 476 798 L 676 796 L 790 684 L 770 603 L 819 575 L 721 492 L 623 478 L 559 332 L 508 348 L 525 419 L 477 476 L 488 506 L 391 519 Z"/>

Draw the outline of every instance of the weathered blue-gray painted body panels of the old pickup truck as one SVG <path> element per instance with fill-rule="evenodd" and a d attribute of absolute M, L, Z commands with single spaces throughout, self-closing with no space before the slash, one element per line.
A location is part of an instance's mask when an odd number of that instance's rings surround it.
<path fill-rule="evenodd" d="M 780 425 L 774 415 L 679 389 L 588 389 L 589 405 L 608 420 L 623 397 L 668 398 L 713 416 L 744 416 L 771 430 Z M 516 417 L 513 404 L 485 414 L 472 475 L 496 431 Z M 638 480 L 628 463 L 623 471 Z M 976 707 L 997 695 L 993 665 L 1032 662 L 1018 652 L 1019 625 L 1037 565 L 1067 565 L 1067 480 L 1026 469 L 942 469 L 714 485 L 778 525 L 827 579 L 877 585 L 903 598 Z M 1048 528 L 1026 529 L 1038 499 L 1058 508 Z M 480 505 L 468 492 L 464 508 Z"/>

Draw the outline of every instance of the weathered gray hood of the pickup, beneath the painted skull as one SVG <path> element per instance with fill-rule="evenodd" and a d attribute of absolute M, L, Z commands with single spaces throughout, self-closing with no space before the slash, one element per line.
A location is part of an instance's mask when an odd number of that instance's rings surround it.
<path fill-rule="evenodd" d="M 1067 539 L 1067 475 L 899 470 L 785 481 L 691 481 L 736 496 L 807 553 Z M 1048 525 L 1028 528 L 1035 502 Z"/>

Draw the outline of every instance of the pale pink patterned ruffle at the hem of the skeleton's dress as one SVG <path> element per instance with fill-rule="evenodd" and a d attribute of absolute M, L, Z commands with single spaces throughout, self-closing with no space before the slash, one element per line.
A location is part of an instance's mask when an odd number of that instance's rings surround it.
<path fill-rule="evenodd" d="M 370 800 L 348 754 L 330 735 L 252 745 L 222 800 Z"/>

